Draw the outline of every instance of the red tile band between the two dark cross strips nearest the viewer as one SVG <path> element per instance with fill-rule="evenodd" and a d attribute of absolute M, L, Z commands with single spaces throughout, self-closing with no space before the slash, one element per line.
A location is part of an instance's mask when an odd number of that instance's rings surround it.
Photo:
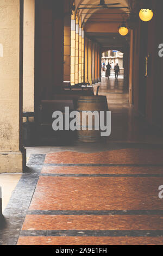
<path fill-rule="evenodd" d="M 155 215 L 27 215 L 22 230 L 163 230 Z"/>

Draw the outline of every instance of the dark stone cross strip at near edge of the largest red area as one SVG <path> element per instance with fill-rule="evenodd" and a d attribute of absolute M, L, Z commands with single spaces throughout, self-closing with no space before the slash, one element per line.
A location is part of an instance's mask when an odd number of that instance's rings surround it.
<path fill-rule="evenodd" d="M 163 210 L 60 211 L 29 210 L 28 215 L 163 215 Z"/>

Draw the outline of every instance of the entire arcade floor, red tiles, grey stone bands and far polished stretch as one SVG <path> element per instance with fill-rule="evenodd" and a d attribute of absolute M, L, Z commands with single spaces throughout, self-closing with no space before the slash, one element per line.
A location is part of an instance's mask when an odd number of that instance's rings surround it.
<path fill-rule="evenodd" d="M 122 76 L 103 74 L 99 85 L 111 136 L 106 143 L 27 148 L 28 169 L 3 212 L 0 244 L 163 244 L 162 135 L 130 108 Z"/>

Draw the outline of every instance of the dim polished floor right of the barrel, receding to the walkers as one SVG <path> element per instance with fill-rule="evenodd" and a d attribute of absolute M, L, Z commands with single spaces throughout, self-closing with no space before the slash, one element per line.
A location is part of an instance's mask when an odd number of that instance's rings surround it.
<path fill-rule="evenodd" d="M 103 72 L 102 82 L 94 86 L 95 92 L 98 85 L 98 95 L 107 97 L 111 111 L 111 136 L 108 142 L 163 143 L 162 133 L 146 123 L 129 106 L 129 95 L 123 76 L 115 80 L 114 74 L 111 74 L 108 80 Z"/>

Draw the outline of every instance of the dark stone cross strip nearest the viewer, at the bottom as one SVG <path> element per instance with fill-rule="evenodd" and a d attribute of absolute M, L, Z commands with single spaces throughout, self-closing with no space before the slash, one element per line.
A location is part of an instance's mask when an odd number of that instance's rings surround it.
<path fill-rule="evenodd" d="M 163 236 L 163 230 L 22 230 L 21 236 Z"/>

